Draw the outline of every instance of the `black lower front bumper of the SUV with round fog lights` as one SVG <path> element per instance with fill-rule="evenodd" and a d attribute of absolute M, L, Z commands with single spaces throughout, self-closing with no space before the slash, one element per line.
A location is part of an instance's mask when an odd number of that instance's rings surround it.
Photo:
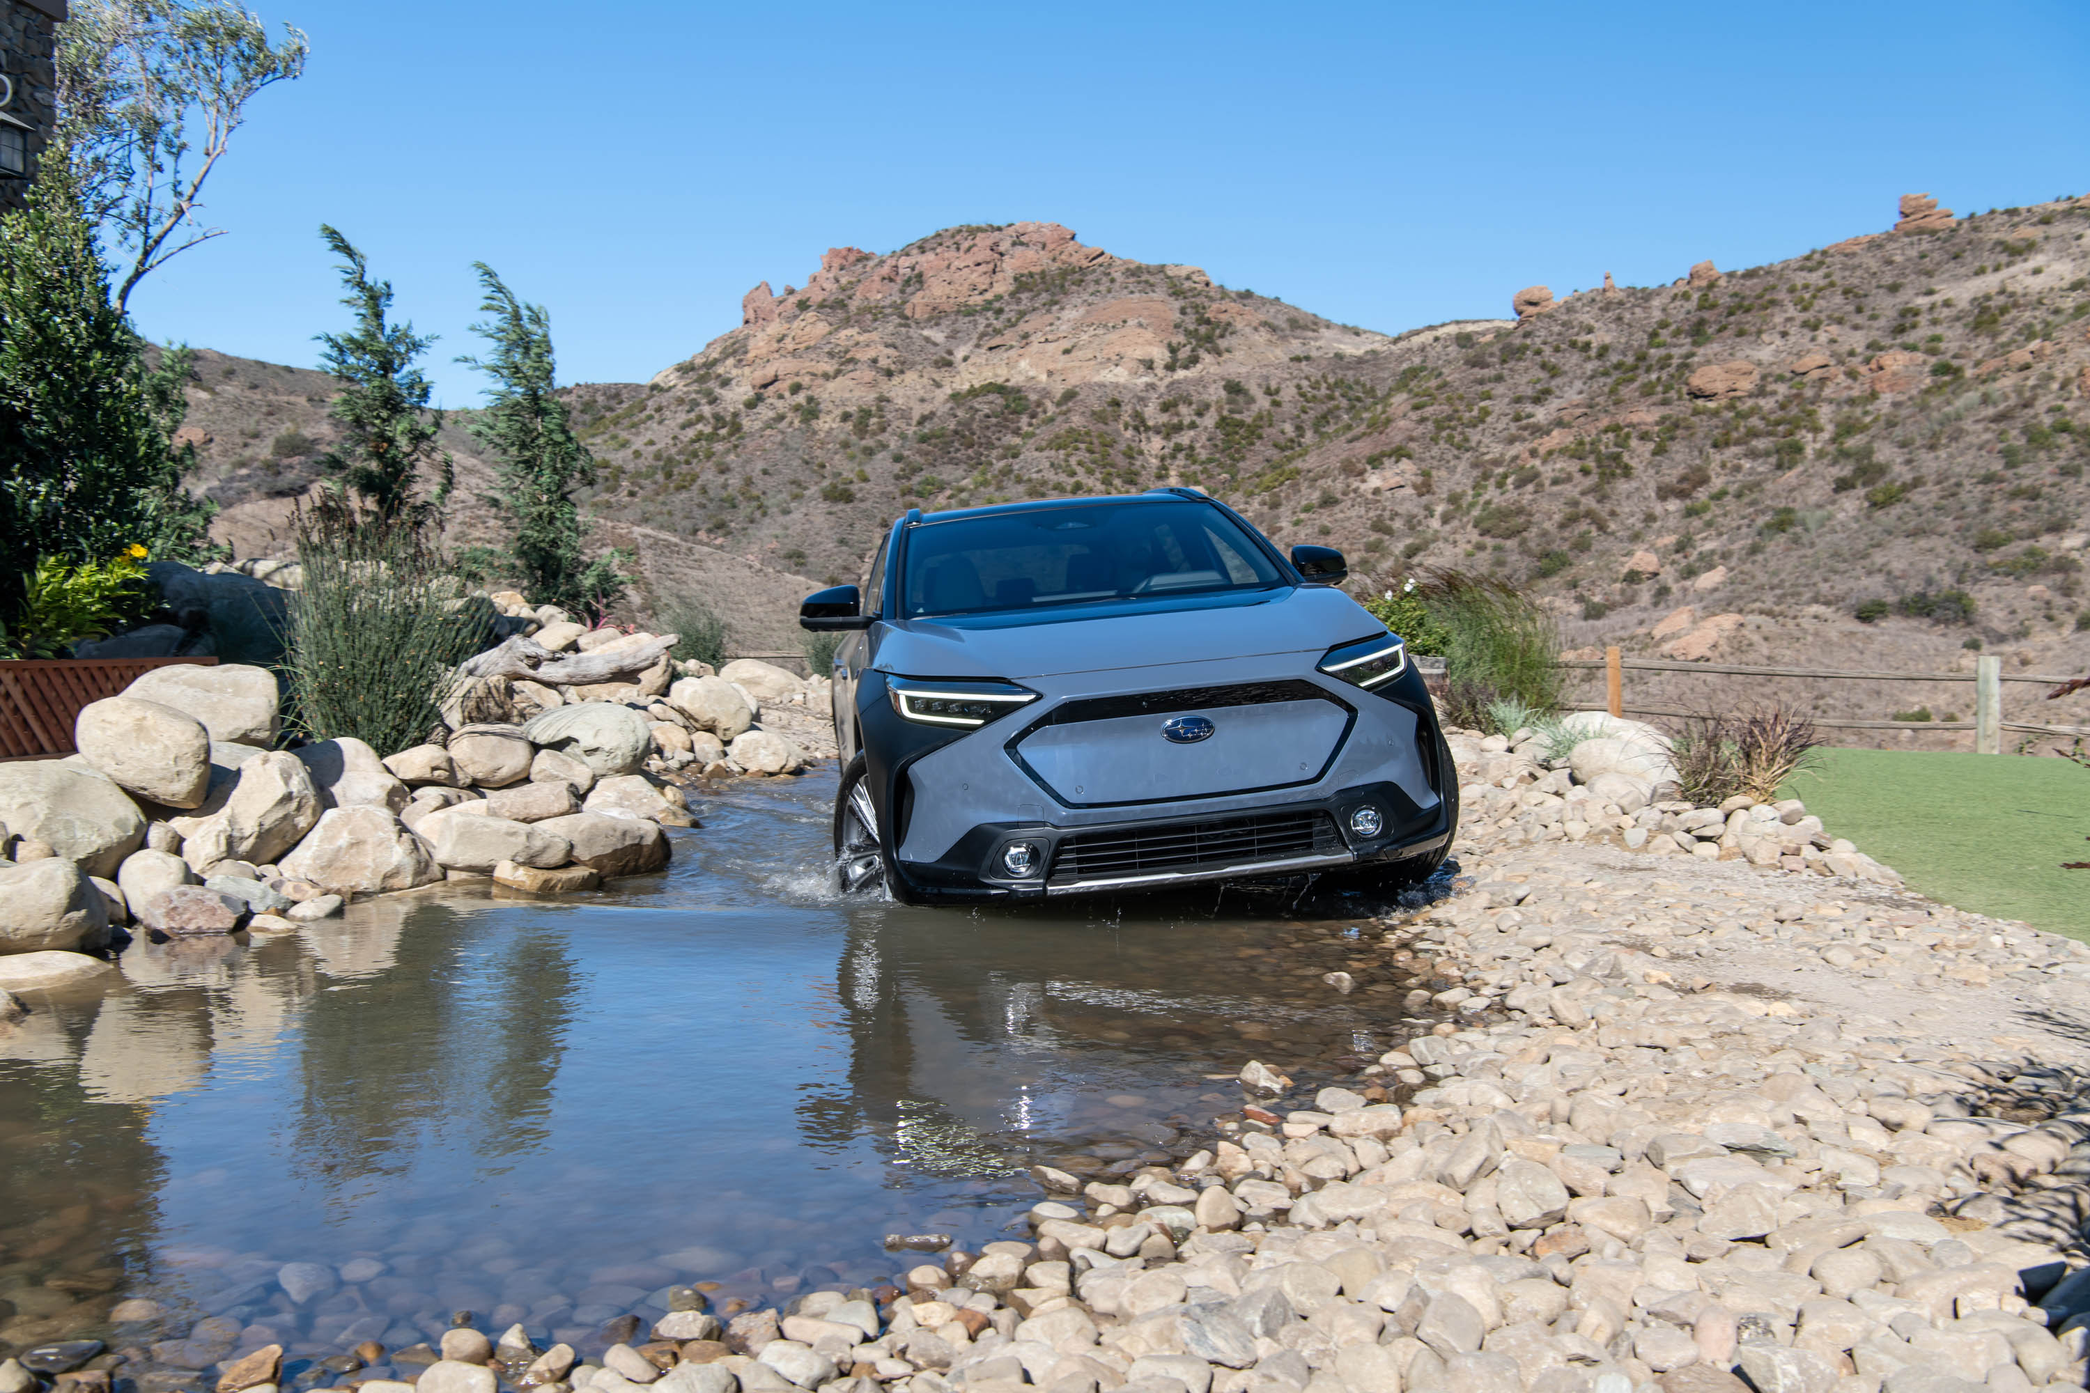
<path fill-rule="evenodd" d="M 1371 806 L 1381 831 L 1363 837 L 1350 814 Z M 1450 840 L 1450 804 L 1417 808 L 1398 783 L 1367 783 L 1327 798 L 1267 808 L 1053 827 L 980 823 L 938 860 L 899 863 L 922 898 L 1041 900 L 1068 894 L 1162 890 L 1216 879 L 1298 875 L 1423 856 Z M 1030 842 L 1043 873 L 1012 877 L 1001 848 Z"/>

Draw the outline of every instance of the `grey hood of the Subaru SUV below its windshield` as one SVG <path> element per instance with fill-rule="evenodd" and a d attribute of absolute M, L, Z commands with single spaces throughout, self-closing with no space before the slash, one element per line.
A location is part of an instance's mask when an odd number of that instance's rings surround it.
<path fill-rule="evenodd" d="M 890 624 L 876 668 L 901 677 L 1053 677 L 1208 658 L 1323 654 L 1379 622 L 1327 587 L 1229 591 L 1108 608 L 961 614 Z"/>

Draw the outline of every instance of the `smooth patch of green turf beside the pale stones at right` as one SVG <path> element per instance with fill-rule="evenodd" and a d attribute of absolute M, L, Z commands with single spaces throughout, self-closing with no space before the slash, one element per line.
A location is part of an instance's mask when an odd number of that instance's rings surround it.
<path fill-rule="evenodd" d="M 1831 837 L 1912 890 L 1998 919 L 2090 940 L 2090 769 L 2069 760 L 1931 750 L 1818 750 L 1785 787 Z"/>

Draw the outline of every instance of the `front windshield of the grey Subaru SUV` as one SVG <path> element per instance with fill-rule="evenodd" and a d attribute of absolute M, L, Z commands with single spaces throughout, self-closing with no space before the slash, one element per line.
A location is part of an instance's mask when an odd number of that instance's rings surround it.
<path fill-rule="evenodd" d="M 1262 547 L 1210 503 L 1068 503 L 915 526 L 907 535 L 901 614 L 978 614 L 1281 583 Z"/>

